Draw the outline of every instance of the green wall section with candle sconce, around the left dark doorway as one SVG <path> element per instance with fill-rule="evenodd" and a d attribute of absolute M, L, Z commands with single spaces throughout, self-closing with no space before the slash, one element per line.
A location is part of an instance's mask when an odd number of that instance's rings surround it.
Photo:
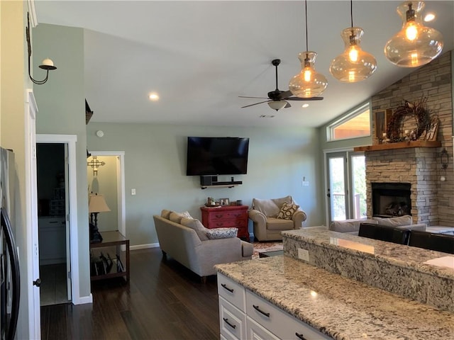
<path fill-rule="evenodd" d="M 84 30 L 40 24 L 33 30 L 34 78 L 43 79 L 38 68 L 50 57 L 57 69 L 49 81 L 35 86 L 38 105 L 36 133 L 77 135 L 77 226 L 79 249 L 79 291 L 90 295 L 89 232 L 87 194 L 87 138 L 85 130 Z"/>

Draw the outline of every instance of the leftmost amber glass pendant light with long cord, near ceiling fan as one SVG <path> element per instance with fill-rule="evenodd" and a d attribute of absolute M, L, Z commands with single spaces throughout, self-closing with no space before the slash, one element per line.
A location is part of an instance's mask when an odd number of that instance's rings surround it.
<path fill-rule="evenodd" d="M 316 72 L 314 62 L 316 52 L 309 51 L 307 43 L 307 1 L 304 1 L 306 10 L 306 52 L 300 52 L 298 59 L 301 62 L 301 72 L 289 81 L 289 90 L 299 98 L 319 96 L 328 86 L 328 80 L 323 74 Z"/>

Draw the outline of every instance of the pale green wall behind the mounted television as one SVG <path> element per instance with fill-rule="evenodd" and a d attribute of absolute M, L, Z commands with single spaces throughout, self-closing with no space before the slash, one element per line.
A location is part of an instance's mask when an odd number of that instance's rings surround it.
<path fill-rule="evenodd" d="M 96 108 L 92 110 L 96 115 Z M 104 137 L 97 137 L 97 130 L 103 130 Z M 188 136 L 249 137 L 248 174 L 234 176 L 243 185 L 201 190 L 199 176 L 186 176 Z M 318 204 L 319 138 L 313 128 L 89 123 L 87 146 L 90 152 L 125 152 L 126 234 L 131 246 L 157 242 L 153 215 L 162 209 L 188 210 L 201 218 L 199 207 L 208 196 L 250 205 L 253 198 L 292 195 L 308 214 L 306 226 L 323 222 Z M 230 177 L 218 180 L 230 181 Z M 309 187 L 302 186 L 303 177 Z M 135 196 L 131 188 L 136 189 Z"/>

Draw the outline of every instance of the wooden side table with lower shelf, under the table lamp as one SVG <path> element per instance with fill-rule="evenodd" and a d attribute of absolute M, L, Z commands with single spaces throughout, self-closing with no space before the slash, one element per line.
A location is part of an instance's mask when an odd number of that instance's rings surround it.
<path fill-rule="evenodd" d="M 123 266 L 123 270 L 118 270 L 118 264 L 116 260 L 114 261 L 114 266 L 112 266 L 111 271 L 109 273 L 103 273 L 100 275 L 92 275 L 90 276 L 90 280 L 101 280 L 104 278 L 118 278 L 120 276 L 126 277 L 126 282 L 129 282 L 129 239 L 126 239 L 120 232 L 101 232 L 102 242 L 98 243 L 90 243 L 90 252 L 93 249 L 99 248 L 106 248 L 106 247 L 116 247 L 116 259 L 120 259 L 121 265 Z M 121 256 L 121 246 L 126 246 L 126 254 L 125 254 L 125 264 L 126 268 L 123 265 L 122 256 Z M 99 254 L 94 254 L 93 256 L 99 256 Z"/>

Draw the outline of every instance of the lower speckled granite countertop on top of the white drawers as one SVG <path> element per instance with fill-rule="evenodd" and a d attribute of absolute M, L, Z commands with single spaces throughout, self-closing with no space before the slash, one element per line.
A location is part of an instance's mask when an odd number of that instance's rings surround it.
<path fill-rule="evenodd" d="M 216 265 L 218 272 L 333 339 L 454 340 L 454 314 L 289 256 Z"/>

